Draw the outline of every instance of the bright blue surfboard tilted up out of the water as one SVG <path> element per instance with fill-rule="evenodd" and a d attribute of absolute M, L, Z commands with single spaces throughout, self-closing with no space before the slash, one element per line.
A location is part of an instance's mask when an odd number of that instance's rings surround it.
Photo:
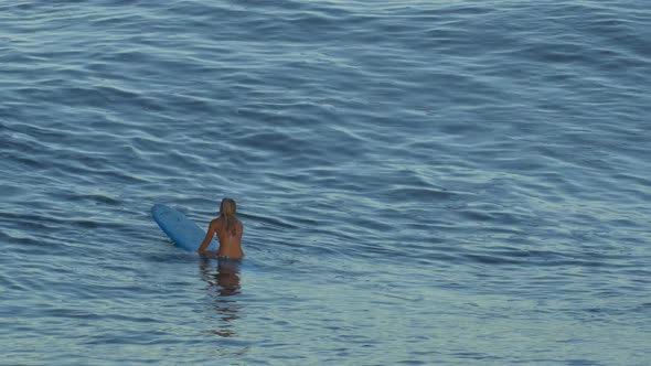
<path fill-rule="evenodd" d="M 205 238 L 205 232 L 199 225 L 172 207 L 156 204 L 151 207 L 151 217 L 179 248 L 196 251 Z M 209 249 L 218 249 L 216 239 L 213 238 Z"/>

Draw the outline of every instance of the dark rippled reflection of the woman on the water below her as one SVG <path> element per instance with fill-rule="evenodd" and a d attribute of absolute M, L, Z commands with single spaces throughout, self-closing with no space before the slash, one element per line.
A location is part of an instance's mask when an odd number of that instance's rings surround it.
<path fill-rule="evenodd" d="M 211 293 L 214 291 L 214 308 L 220 314 L 221 326 L 213 331 L 218 336 L 230 337 L 235 335 L 233 321 L 239 319 L 239 308 L 236 297 L 241 293 L 239 261 L 220 260 L 214 271 L 213 261 L 203 258 L 201 261 L 202 279 L 210 284 Z"/>

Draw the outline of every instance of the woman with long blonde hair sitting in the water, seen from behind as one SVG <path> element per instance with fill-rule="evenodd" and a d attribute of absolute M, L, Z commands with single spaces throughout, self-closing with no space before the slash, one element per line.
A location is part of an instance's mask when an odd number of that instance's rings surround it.
<path fill-rule="evenodd" d="M 244 225 L 235 215 L 236 211 L 235 201 L 231 198 L 222 200 L 220 217 L 211 222 L 207 234 L 199 247 L 200 255 L 217 259 L 242 259 L 244 257 L 244 251 L 242 251 Z M 206 250 L 215 234 L 220 239 L 220 250 Z"/>

